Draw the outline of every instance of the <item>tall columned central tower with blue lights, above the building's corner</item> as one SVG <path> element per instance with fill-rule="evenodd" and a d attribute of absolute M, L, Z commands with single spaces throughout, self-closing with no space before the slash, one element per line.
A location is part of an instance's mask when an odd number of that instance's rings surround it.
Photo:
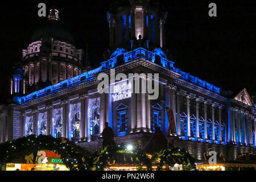
<path fill-rule="evenodd" d="M 110 48 L 163 48 L 166 17 L 167 12 L 154 1 L 113 3 L 108 12 Z"/>

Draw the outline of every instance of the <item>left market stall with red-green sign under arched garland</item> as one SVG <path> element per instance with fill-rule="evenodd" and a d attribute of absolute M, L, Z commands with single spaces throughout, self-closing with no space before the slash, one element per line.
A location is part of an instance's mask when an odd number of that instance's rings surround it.
<path fill-rule="evenodd" d="M 0 144 L 2 171 L 85 171 L 89 152 L 64 138 L 30 135 Z"/>

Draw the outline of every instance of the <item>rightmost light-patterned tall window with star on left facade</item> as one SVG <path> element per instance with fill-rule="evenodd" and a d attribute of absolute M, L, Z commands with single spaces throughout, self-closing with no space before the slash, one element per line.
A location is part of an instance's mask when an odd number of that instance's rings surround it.
<path fill-rule="evenodd" d="M 100 97 L 89 99 L 88 118 L 90 135 L 100 134 Z"/>

